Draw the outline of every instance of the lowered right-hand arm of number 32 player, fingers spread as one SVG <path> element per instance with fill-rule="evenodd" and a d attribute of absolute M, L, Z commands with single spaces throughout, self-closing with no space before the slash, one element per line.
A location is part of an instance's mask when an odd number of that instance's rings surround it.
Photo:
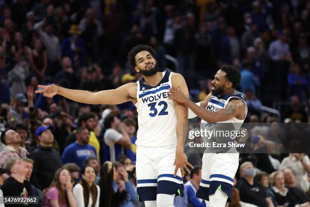
<path fill-rule="evenodd" d="M 188 88 L 186 82 L 181 74 L 172 74 L 171 76 L 172 88 L 180 90 L 187 98 L 189 96 Z M 187 157 L 184 153 L 184 141 L 185 138 L 184 131 L 187 131 L 187 118 L 188 118 L 188 108 L 182 103 L 173 100 L 175 113 L 177 116 L 177 148 L 176 148 L 176 156 L 175 156 L 175 172 L 174 175 L 177 174 L 178 169 L 180 168 L 182 176 L 184 176 L 185 169 L 188 173 L 190 170 L 187 168 L 187 165 L 193 168 L 193 166 L 187 162 Z"/>

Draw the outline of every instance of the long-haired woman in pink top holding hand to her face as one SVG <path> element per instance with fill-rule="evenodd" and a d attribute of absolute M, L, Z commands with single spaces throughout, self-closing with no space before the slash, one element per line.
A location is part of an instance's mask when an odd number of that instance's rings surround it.
<path fill-rule="evenodd" d="M 54 175 L 50 188 L 44 199 L 45 207 L 76 207 L 76 201 L 72 193 L 72 181 L 69 171 L 59 168 Z"/>

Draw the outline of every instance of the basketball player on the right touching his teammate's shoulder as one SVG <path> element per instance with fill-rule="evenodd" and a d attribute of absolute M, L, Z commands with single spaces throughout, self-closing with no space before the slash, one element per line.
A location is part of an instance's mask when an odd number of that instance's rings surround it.
<path fill-rule="evenodd" d="M 188 118 L 199 116 L 202 119 L 201 127 L 225 130 L 229 127 L 227 126 L 229 123 L 228 125 L 234 127 L 234 130 L 239 130 L 247 115 L 244 98 L 235 92 L 240 80 L 241 74 L 236 67 L 224 65 L 216 73 L 212 81 L 212 93 L 207 95 L 205 100 L 195 104 L 177 89 L 170 89 L 169 97 L 189 108 Z M 226 142 L 221 139 L 211 137 L 209 141 Z M 234 142 L 231 137 L 228 139 Z M 202 180 L 196 196 L 207 200 L 207 206 L 224 207 L 227 198 L 228 201 L 231 198 L 234 177 L 239 165 L 239 153 L 235 149 L 227 151 L 223 148 L 210 148 L 205 151 L 202 159 Z"/>

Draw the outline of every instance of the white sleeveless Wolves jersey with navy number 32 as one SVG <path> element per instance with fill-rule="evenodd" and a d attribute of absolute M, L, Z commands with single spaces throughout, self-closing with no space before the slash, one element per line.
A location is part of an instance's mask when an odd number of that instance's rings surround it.
<path fill-rule="evenodd" d="M 171 72 L 163 72 L 163 79 L 157 86 L 146 85 L 143 79 L 137 82 L 137 146 L 164 147 L 177 143 L 174 103 L 168 99 L 171 75 Z"/>

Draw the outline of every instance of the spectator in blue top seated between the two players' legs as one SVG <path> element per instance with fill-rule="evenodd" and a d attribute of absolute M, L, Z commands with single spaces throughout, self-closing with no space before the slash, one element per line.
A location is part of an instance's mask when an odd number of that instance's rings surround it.
<path fill-rule="evenodd" d="M 203 199 L 196 197 L 196 192 L 201 182 L 201 167 L 194 167 L 190 172 L 190 180 L 185 183 L 184 187 L 187 190 L 188 204 L 193 207 L 205 207 L 206 202 Z"/>

